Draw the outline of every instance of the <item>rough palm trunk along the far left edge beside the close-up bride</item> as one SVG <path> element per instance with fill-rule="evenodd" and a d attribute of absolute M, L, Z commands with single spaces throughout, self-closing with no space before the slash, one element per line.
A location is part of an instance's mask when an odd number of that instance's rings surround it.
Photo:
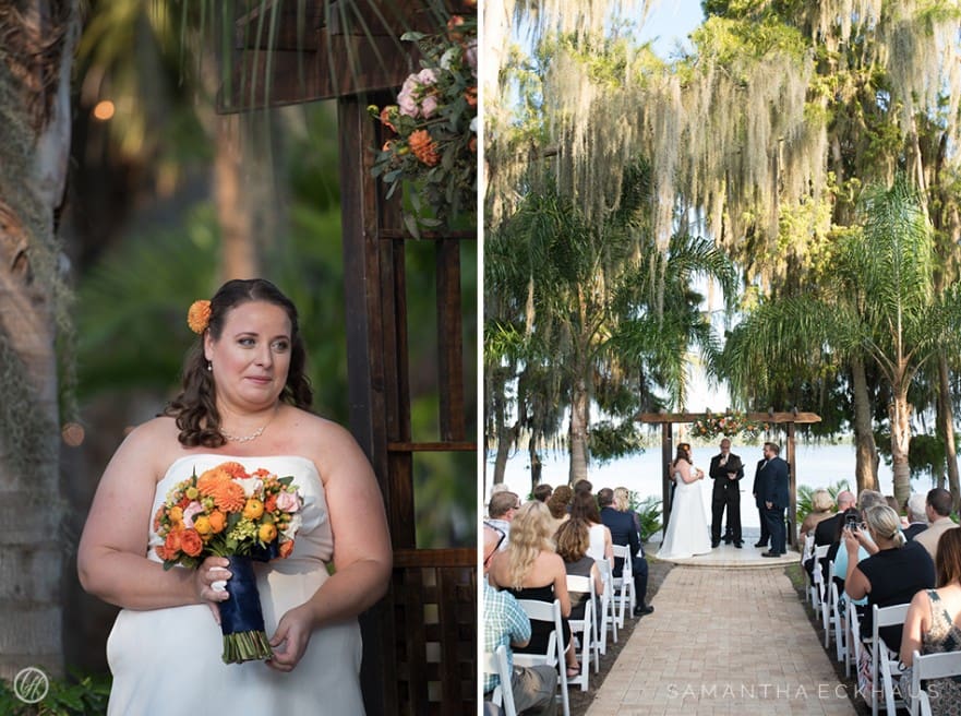
<path fill-rule="evenodd" d="M 76 2 L 0 5 L 0 677 L 63 671 L 55 227 L 70 153 Z M 59 310 L 58 310 L 59 309 Z"/>

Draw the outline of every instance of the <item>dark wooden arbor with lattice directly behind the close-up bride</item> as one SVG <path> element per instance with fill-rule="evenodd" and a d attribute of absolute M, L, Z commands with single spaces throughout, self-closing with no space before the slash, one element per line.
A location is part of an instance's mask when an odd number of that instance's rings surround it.
<path fill-rule="evenodd" d="M 262 26 L 272 22 L 274 3 L 266 5 Z M 409 315 L 411 242 L 398 201 L 385 201 L 371 177 L 386 138 L 367 110 L 396 102 L 404 79 L 418 69 L 400 35 L 436 32 L 444 9 L 432 0 L 307 0 L 277 8 L 273 40 L 256 47 L 247 38 L 257 37 L 259 17 L 238 21 L 233 92 L 225 92 L 221 103 L 232 111 L 337 100 L 350 428 L 374 466 L 394 546 L 391 590 L 361 617 L 367 713 L 470 714 L 477 708 L 477 550 L 418 549 L 413 474 L 415 457 L 431 452 L 468 453 L 476 464 L 476 430 L 468 435 L 465 416 L 476 413 L 477 391 L 465 386 L 463 341 L 465 315 L 477 311 L 472 297 L 463 308 L 460 258 L 464 241 L 477 235 L 422 237 L 434 247 L 436 310 L 434 317 Z M 250 96 L 252 87 L 259 95 Z M 418 441 L 411 434 L 408 325 L 432 319 L 440 434 Z"/>

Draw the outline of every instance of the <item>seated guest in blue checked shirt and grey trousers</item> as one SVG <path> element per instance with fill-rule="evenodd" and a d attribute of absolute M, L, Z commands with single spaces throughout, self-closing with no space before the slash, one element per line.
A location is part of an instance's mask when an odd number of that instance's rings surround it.
<path fill-rule="evenodd" d="M 497 533 L 484 529 L 484 573 L 497 553 Z M 507 647 L 507 666 L 513 678 L 514 705 L 518 714 L 554 716 L 557 713 L 554 691 L 557 689 L 557 670 L 546 664 L 532 667 L 514 666 L 512 648 L 527 646 L 530 641 L 530 619 L 507 592 L 498 592 L 483 580 L 484 589 L 484 651 L 494 653 L 502 644 Z M 496 673 L 484 675 L 484 699 L 490 702 L 491 692 L 501 680 Z M 485 709 L 486 709 L 485 704 Z M 486 711 L 484 713 L 488 713 Z"/>

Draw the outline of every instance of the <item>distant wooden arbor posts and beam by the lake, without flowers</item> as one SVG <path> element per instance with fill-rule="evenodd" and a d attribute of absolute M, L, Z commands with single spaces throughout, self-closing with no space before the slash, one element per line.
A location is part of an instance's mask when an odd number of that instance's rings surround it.
<path fill-rule="evenodd" d="M 674 461 L 674 423 L 675 422 L 694 422 L 709 417 L 708 413 L 642 413 L 637 417 L 639 422 L 660 423 L 661 425 L 661 462 L 663 467 L 661 476 L 661 494 L 664 512 L 664 524 L 668 524 L 668 517 L 671 514 L 671 463 Z M 788 539 L 792 547 L 797 545 L 797 467 L 794 452 L 794 427 L 797 423 L 808 425 L 812 422 L 820 422 L 820 416 L 814 413 L 748 413 L 748 420 L 755 422 L 767 422 L 773 425 L 783 425 L 788 431 L 788 450 L 783 455 L 788 461 L 788 467 L 791 476 L 791 485 L 789 488 L 791 494 L 791 504 L 788 508 Z M 718 439 L 720 440 L 720 438 Z M 745 465 L 745 468 L 747 466 Z M 747 473 L 747 469 L 745 469 Z M 748 475 L 745 474 L 745 479 Z"/>

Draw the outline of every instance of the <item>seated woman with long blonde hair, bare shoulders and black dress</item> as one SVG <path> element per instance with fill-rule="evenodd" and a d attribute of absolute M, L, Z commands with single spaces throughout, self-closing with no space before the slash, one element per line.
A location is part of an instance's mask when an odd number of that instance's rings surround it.
<path fill-rule="evenodd" d="M 562 644 L 566 644 L 567 673 L 580 673 L 577 655 L 570 642 L 570 596 L 567 594 L 567 570 L 564 560 L 554 551 L 551 540 L 550 512 L 542 502 L 532 500 L 517 511 L 510 523 L 507 549 L 491 560 L 488 580 L 492 586 L 506 589 L 517 599 L 534 599 L 552 604 L 561 602 Z M 514 649 L 518 654 L 543 654 L 554 624 L 534 621 L 530 644 Z"/>

